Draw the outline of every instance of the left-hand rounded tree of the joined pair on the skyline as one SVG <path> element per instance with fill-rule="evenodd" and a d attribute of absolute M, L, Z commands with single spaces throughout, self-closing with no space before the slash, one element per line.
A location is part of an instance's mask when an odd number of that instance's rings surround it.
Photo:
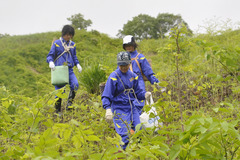
<path fill-rule="evenodd" d="M 133 17 L 132 21 L 128 21 L 123 26 L 123 30 L 119 30 L 118 36 L 133 35 L 136 39 L 148 39 L 157 37 L 157 25 L 154 17 L 146 14 L 140 14 Z"/>

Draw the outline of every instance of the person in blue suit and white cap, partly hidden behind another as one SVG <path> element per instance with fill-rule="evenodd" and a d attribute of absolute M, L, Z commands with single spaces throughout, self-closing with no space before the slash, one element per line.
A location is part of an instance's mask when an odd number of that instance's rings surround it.
<path fill-rule="evenodd" d="M 127 35 L 123 38 L 123 49 L 131 54 L 132 64 L 130 66 L 130 70 L 138 75 L 139 86 L 142 90 L 145 91 L 144 75 L 151 84 L 159 83 L 159 80 L 155 77 L 155 73 L 153 72 L 146 57 L 143 54 L 138 53 L 137 43 L 133 36 Z M 144 103 L 144 100 L 140 103 L 136 101 L 134 102 L 139 114 L 142 113 Z"/>

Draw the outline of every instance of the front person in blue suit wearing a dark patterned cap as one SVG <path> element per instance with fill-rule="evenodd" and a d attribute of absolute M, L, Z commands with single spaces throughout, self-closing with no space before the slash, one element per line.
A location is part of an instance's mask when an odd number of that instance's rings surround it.
<path fill-rule="evenodd" d="M 113 119 L 116 132 L 122 137 L 125 150 L 129 143 L 130 130 L 140 124 L 139 112 L 134 101 L 141 101 L 151 95 L 139 85 L 138 76 L 129 70 L 131 56 L 128 52 L 117 54 L 118 68 L 112 72 L 106 82 L 102 104 L 106 109 L 105 118 Z"/>

